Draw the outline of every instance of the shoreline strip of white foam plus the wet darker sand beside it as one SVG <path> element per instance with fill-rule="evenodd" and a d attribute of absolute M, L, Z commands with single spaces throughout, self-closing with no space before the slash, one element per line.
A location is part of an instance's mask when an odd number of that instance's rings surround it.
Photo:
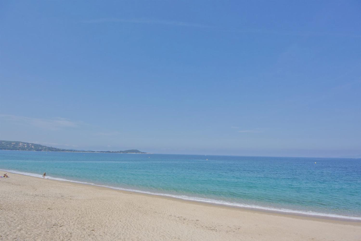
<path fill-rule="evenodd" d="M 38 175 L 35 173 L 27 173 L 27 172 L 21 172 L 21 171 L 17 171 L 17 170 L 3 170 L 3 169 L 0 169 L 0 171 L 8 172 L 8 173 L 16 174 L 16 175 L 23 175 L 23 176 L 29 176 L 29 177 L 34 177 L 34 178 L 42 178 L 42 176 L 40 174 Z M 290 209 L 282 210 L 280 208 L 263 207 L 263 206 L 258 206 L 258 205 L 245 205 L 244 204 L 243 206 L 241 206 L 239 203 L 234 203 L 234 205 L 232 205 L 232 203 L 225 203 L 224 201 L 216 200 L 216 199 L 196 198 L 196 197 L 176 195 L 176 194 L 166 194 L 166 193 L 153 193 L 150 191 L 121 188 L 121 187 L 109 186 L 109 185 L 100 185 L 100 184 L 94 184 L 91 182 L 68 180 L 65 178 L 57 178 L 57 177 L 51 177 L 51 176 L 47 176 L 47 178 L 45 178 L 45 179 L 52 180 L 52 181 L 72 183 L 72 184 L 93 186 L 93 187 L 97 187 L 97 188 L 105 188 L 105 189 L 110 189 L 110 190 L 117 190 L 117 191 L 122 191 L 122 192 L 127 192 L 127 193 L 136 193 L 139 195 L 146 195 L 149 197 L 166 198 L 166 199 L 170 199 L 170 200 L 196 203 L 196 204 L 200 204 L 200 205 L 226 207 L 226 208 L 232 208 L 232 209 L 236 209 L 236 210 L 256 211 L 256 212 L 265 213 L 265 214 L 278 214 L 278 215 L 285 215 L 285 216 L 291 216 L 291 217 L 303 217 L 303 218 L 312 218 L 312 219 L 319 219 L 319 220 L 333 220 L 333 221 L 341 221 L 341 222 L 361 223 L 360 217 L 353 217 L 353 216 L 345 216 L 345 215 L 338 215 L 338 214 L 326 214 L 326 213 L 317 213 L 317 212 L 313 212 L 313 214 L 307 214 L 306 211 L 290 210 Z"/>

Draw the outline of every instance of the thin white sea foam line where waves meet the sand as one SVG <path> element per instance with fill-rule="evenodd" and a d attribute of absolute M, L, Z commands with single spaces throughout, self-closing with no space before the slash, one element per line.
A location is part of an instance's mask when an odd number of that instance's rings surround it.
<path fill-rule="evenodd" d="M 35 173 L 20 172 L 20 171 L 16 171 L 16 170 L 3 170 L 3 171 L 17 173 L 17 174 L 26 175 L 26 176 L 43 178 L 42 175 L 35 174 Z M 323 217 L 323 218 L 349 219 L 349 220 L 360 220 L 361 221 L 361 217 L 358 217 L 358 216 L 327 214 L 327 213 L 314 212 L 314 211 L 302 211 L 302 210 L 292 210 L 292 209 L 288 209 L 288 208 L 275 208 L 275 207 L 266 207 L 266 206 L 259 206 L 259 205 L 249 205 L 246 203 L 227 202 L 227 201 L 210 199 L 210 198 L 190 197 L 187 195 L 155 193 L 155 192 L 151 192 L 151 191 L 142 191 L 142 190 L 129 189 L 129 188 L 119 188 L 119 187 L 115 187 L 115 186 L 99 185 L 99 184 L 95 184 L 92 182 L 74 181 L 74 180 L 68 180 L 65 178 L 58 178 L 58 177 L 51 177 L 51 176 L 46 176 L 45 178 L 52 179 L 52 180 L 58 180 L 58 181 L 76 182 L 76 183 L 88 184 L 88 185 L 93 185 L 93 186 L 101 186 L 104 188 L 111 188 L 111 189 L 117 189 L 117 190 L 122 190 L 122 191 L 132 191 L 132 192 L 145 193 L 145 194 L 151 194 L 151 195 L 157 195 L 157 196 L 173 197 L 173 198 L 179 198 L 179 199 L 188 200 L 188 201 L 226 205 L 226 206 L 232 206 L 232 207 L 251 208 L 251 209 L 257 209 L 257 210 L 282 212 L 282 213 L 296 214 L 296 215 L 298 214 L 298 215 L 308 215 L 308 216 L 319 216 L 319 217 Z"/>

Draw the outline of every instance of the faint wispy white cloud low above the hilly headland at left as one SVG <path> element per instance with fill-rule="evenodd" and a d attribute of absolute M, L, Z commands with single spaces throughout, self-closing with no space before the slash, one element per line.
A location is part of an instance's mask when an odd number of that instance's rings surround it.
<path fill-rule="evenodd" d="M 60 128 L 75 128 L 78 127 L 84 122 L 82 121 L 71 121 L 69 119 L 55 117 L 52 119 L 40 119 L 32 118 L 25 116 L 15 116 L 15 115 L 0 115 L 0 118 L 3 120 L 13 121 L 21 125 L 32 125 L 38 126 L 46 129 L 60 129 Z"/>

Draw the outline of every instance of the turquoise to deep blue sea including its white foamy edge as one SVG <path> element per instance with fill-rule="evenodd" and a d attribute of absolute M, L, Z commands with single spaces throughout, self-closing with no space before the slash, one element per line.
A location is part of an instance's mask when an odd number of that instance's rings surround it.
<path fill-rule="evenodd" d="M 361 220 L 361 159 L 0 151 L 0 169 L 237 207 Z"/>

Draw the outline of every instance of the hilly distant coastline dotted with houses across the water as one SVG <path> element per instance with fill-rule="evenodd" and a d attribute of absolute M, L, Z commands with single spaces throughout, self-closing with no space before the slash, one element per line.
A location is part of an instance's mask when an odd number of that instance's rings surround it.
<path fill-rule="evenodd" d="M 92 151 L 92 150 L 85 151 L 85 150 L 73 150 L 73 149 L 60 149 L 56 147 L 43 146 L 30 142 L 3 141 L 3 140 L 0 140 L 0 150 L 148 154 L 147 152 L 139 151 L 136 149 L 125 150 L 125 151 Z"/>

